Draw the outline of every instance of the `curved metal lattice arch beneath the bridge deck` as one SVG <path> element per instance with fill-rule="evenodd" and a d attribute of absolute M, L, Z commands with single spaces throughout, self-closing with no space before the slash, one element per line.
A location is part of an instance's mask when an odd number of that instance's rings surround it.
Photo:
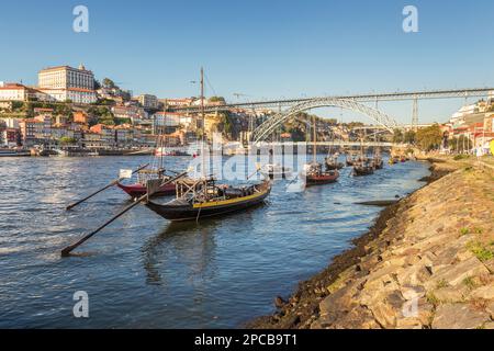
<path fill-rule="evenodd" d="M 355 100 L 349 99 L 337 99 L 337 98 L 319 98 L 310 101 L 304 101 L 299 103 L 287 111 L 280 112 L 274 116 L 267 120 L 260 126 L 254 131 L 252 141 L 259 143 L 263 140 L 268 135 L 270 135 L 280 124 L 284 123 L 287 120 L 293 117 L 297 113 L 317 109 L 317 107 L 341 107 L 345 110 L 350 110 L 369 116 L 371 120 L 383 126 L 390 132 L 398 127 L 397 122 L 389 116 L 388 114 L 372 109 L 368 105 L 359 103 Z"/>

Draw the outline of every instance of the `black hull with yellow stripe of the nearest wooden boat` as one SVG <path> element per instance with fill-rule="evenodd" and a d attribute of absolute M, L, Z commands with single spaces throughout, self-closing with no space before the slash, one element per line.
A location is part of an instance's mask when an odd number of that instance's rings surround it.
<path fill-rule="evenodd" d="M 270 194 L 271 186 L 269 185 L 265 191 L 255 193 L 249 196 L 217 201 L 205 204 L 157 204 L 151 201 L 146 203 L 146 206 L 160 215 L 161 217 L 171 222 L 197 220 L 203 217 L 213 217 L 227 215 L 234 212 L 243 211 L 249 207 L 261 204 Z"/>

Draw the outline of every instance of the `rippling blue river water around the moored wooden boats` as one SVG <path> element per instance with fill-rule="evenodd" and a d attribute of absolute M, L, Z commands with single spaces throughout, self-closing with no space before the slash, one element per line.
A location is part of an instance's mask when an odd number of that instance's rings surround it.
<path fill-rule="evenodd" d="M 147 157 L 0 159 L 0 328 L 235 328 L 274 310 L 301 280 L 368 230 L 380 208 L 424 183 L 427 165 L 386 165 L 363 178 L 285 191 L 267 203 L 199 224 L 170 224 L 144 206 L 89 240 L 81 257 L 59 250 L 130 204 L 119 189 L 65 206 Z M 184 158 L 168 160 L 180 169 Z M 89 296 L 75 318 L 74 294 Z"/>

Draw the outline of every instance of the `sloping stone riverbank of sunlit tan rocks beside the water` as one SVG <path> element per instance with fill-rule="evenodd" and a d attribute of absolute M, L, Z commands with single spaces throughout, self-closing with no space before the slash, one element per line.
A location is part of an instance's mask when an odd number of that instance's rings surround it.
<path fill-rule="evenodd" d="M 248 327 L 494 328 L 494 172 L 442 159 L 428 181 Z"/>

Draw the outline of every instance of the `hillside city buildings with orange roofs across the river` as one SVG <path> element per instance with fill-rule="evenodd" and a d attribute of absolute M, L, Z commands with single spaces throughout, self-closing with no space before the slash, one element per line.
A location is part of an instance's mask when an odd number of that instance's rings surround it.
<path fill-rule="evenodd" d="M 204 104 L 224 103 L 218 100 L 205 99 Z M 177 146 L 194 143 L 202 129 L 210 139 L 213 133 L 223 132 L 245 143 L 252 128 L 273 113 L 229 109 L 227 121 L 222 113 L 209 113 L 202 125 L 194 114 L 168 111 L 198 105 L 198 98 L 159 99 L 148 93 L 133 98 L 113 82 L 97 82 L 83 65 L 48 67 L 38 71 L 37 86 L 0 81 L 0 147 L 141 148 L 155 146 L 157 135 Z M 327 127 L 323 124 L 318 129 Z M 487 100 L 459 109 L 441 128 L 449 138 L 468 138 L 471 147 L 494 139 L 494 92 Z M 351 137 L 341 125 L 334 125 L 333 134 Z M 274 137 L 290 141 L 295 136 L 284 131 Z M 297 137 L 305 138 L 300 133 Z"/>

